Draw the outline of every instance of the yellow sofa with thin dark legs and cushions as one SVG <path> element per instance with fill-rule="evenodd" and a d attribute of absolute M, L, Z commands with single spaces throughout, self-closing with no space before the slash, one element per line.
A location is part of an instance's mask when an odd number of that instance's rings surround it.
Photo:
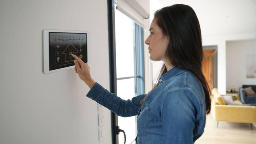
<path fill-rule="evenodd" d="M 219 121 L 235 122 L 235 123 L 250 123 L 252 129 L 252 123 L 255 123 L 255 106 L 245 106 L 235 96 L 234 103 L 241 105 L 226 105 L 223 103 L 222 96 L 218 93 L 217 88 L 212 89 L 212 116 L 217 122 Z M 221 103 L 221 104 L 220 104 Z"/>

